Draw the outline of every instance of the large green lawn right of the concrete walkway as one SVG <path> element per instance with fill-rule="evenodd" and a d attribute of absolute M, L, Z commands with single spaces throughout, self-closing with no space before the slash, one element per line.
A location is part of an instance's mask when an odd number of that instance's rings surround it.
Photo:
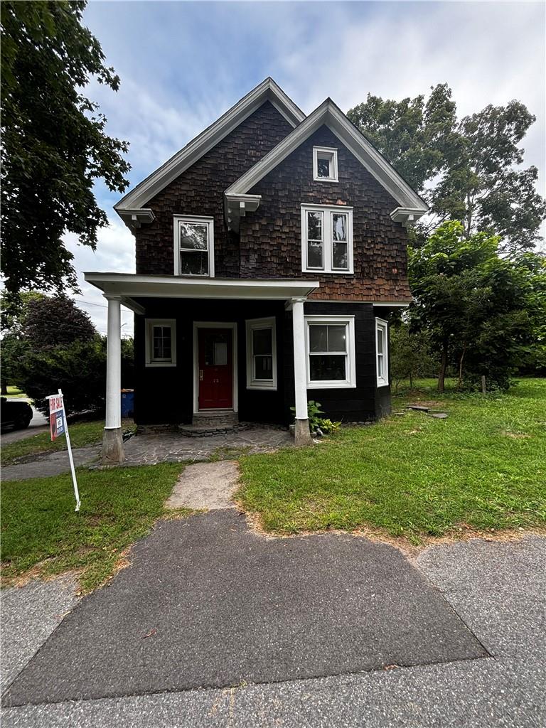
<path fill-rule="evenodd" d="M 375 528 L 413 543 L 459 529 L 546 528 L 546 379 L 510 392 L 438 395 L 432 380 L 394 400 L 433 400 L 320 444 L 240 461 L 242 507 L 266 531 Z"/>

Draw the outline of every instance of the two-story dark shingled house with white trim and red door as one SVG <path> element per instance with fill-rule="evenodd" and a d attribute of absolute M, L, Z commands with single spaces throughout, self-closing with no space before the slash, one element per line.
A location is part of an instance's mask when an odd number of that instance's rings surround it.
<path fill-rule="evenodd" d="M 138 424 L 287 424 L 307 401 L 389 411 L 405 227 L 427 205 L 331 99 L 303 112 L 272 79 L 115 206 L 136 273 L 86 273 L 108 300 L 103 458 L 122 459 L 120 304 L 135 312 Z"/>

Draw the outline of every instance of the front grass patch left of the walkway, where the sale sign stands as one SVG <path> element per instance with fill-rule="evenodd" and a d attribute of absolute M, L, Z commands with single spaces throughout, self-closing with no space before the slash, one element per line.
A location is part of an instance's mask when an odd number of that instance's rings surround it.
<path fill-rule="evenodd" d="M 98 587 L 114 573 L 124 550 L 167 515 L 163 503 L 182 470 L 180 463 L 79 470 L 79 513 L 70 475 L 3 483 L 4 583 L 29 571 L 47 577 L 77 569 L 82 590 Z"/>

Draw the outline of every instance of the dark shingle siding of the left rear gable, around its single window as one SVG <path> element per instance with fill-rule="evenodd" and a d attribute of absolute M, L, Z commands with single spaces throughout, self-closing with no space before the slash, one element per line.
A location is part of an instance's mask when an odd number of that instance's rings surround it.
<path fill-rule="evenodd" d="M 215 275 L 239 277 L 239 237 L 226 229 L 223 192 L 290 131 L 284 116 L 266 101 L 147 202 L 156 219 L 135 231 L 136 272 L 172 275 L 173 215 L 209 215 L 214 218 Z"/>

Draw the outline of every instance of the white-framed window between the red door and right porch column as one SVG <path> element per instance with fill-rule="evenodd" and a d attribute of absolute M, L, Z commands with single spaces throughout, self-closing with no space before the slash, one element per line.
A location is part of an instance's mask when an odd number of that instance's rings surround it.
<path fill-rule="evenodd" d="M 247 325 L 247 389 L 277 389 L 277 334 L 274 318 Z"/>

